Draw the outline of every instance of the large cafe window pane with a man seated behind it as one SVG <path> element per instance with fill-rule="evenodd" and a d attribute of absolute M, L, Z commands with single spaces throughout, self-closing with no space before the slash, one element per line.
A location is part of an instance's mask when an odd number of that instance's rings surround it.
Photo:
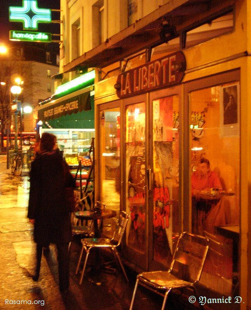
<path fill-rule="evenodd" d="M 222 227 L 239 229 L 239 83 L 192 91 L 189 98 L 192 231 L 212 245 L 201 282 L 230 294 L 238 250 Z"/>

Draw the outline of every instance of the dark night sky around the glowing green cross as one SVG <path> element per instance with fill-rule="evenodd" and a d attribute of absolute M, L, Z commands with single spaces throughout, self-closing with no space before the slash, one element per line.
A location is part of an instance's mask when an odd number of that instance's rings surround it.
<path fill-rule="evenodd" d="M 60 0 L 37 0 L 38 8 L 60 9 Z M 22 7 L 23 0 L 2 0 L 0 2 L 0 43 L 9 41 L 10 30 L 23 30 L 22 23 L 9 22 L 9 7 Z M 59 20 L 60 13 L 52 12 L 52 20 Z M 39 32 L 60 33 L 59 24 L 39 24 Z M 55 38 L 55 37 L 54 37 Z"/>

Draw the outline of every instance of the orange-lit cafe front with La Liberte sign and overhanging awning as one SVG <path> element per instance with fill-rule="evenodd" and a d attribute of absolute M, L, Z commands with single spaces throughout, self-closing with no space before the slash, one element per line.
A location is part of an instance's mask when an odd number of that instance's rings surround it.
<path fill-rule="evenodd" d="M 241 309 L 251 306 L 250 12 L 246 0 L 168 2 L 64 66 L 96 68 L 95 196 L 130 214 L 124 259 L 167 268 L 179 233 L 206 235 L 200 283 L 240 296 Z M 220 186 L 196 196 L 201 158 Z"/>

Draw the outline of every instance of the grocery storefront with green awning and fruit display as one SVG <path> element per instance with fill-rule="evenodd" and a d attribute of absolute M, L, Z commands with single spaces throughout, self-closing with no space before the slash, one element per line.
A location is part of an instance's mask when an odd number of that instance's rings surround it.
<path fill-rule="evenodd" d="M 49 98 L 38 108 L 40 134 L 49 132 L 57 137 L 59 149 L 63 152 L 72 175 L 75 177 L 78 171 L 76 186 L 83 191 L 93 190 L 93 182 L 85 189 L 92 166 L 90 149 L 95 136 L 94 79 L 90 79 L 88 84 L 90 85 L 85 83 L 83 88 L 80 85 L 77 90 L 74 87 L 73 91 L 67 83 L 63 84 L 67 94 L 55 95 L 58 98 Z M 79 165 L 81 169 L 78 169 Z"/>

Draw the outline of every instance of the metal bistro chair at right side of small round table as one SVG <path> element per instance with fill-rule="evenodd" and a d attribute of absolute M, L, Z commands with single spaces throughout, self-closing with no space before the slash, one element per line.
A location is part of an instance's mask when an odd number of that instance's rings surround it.
<path fill-rule="evenodd" d="M 84 250 L 86 251 L 86 257 L 85 257 L 83 269 L 81 271 L 81 277 L 80 277 L 79 284 L 82 283 L 87 259 L 88 259 L 90 250 L 92 248 L 110 248 L 112 251 L 112 254 L 115 258 L 115 261 L 119 263 L 119 265 L 123 271 L 124 277 L 129 282 L 128 276 L 126 274 L 126 271 L 124 270 L 123 264 L 121 262 L 121 259 L 119 257 L 118 252 L 117 252 L 117 249 L 116 249 L 121 243 L 123 233 L 126 229 L 128 220 L 129 220 L 129 214 L 124 212 L 124 211 L 121 211 L 119 214 L 118 222 L 117 222 L 116 227 L 115 227 L 115 231 L 114 231 L 111 239 L 108 239 L 108 238 L 85 238 L 85 239 L 81 240 L 82 249 L 81 249 L 81 253 L 79 256 L 79 260 L 78 260 L 78 264 L 77 264 L 75 274 L 78 273 L 79 265 L 80 265 Z"/>

